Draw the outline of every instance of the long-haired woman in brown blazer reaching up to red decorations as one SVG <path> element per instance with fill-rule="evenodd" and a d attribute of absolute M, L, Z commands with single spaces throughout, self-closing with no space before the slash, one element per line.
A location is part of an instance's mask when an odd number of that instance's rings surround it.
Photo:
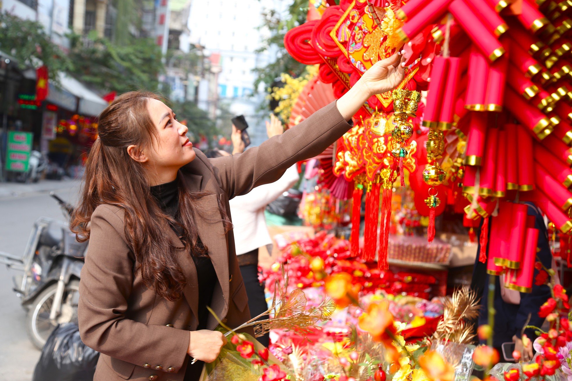
<path fill-rule="evenodd" d="M 231 327 L 250 318 L 228 200 L 320 154 L 368 98 L 402 81 L 402 61 L 376 63 L 337 102 L 228 157 L 193 149 L 154 94 L 126 93 L 102 111 L 72 222 L 89 238 L 78 318 L 101 352 L 94 380 L 198 379 L 226 342 L 206 306 Z"/>

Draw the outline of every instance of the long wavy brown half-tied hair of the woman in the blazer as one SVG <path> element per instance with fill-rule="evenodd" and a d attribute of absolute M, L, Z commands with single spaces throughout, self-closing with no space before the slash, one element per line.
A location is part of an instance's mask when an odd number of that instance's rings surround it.
<path fill-rule="evenodd" d="M 147 110 L 150 98 L 162 101 L 157 94 L 132 91 L 120 95 L 99 117 L 98 139 L 90 150 L 85 167 L 85 182 L 71 227 L 78 240 L 89 239 L 89 221 L 93 211 L 101 204 L 111 204 L 125 211 L 125 237 L 127 244 L 140 265 L 145 285 L 168 299 L 181 298 L 186 279 L 176 259 L 176 250 L 165 234 L 164 227 L 179 226 L 180 236 L 189 255 L 207 255 L 195 223 L 197 216 L 209 220 L 223 219 L 225 230 L 231 228 L 230 220 L 219 198 L 218 214 L 197 211 L 197 199 L 208 192 L 190 192 L 178 179 L 179 210 L 173 219 L 161 211 L 149 191 L 145 169 L 133 160 L 127 147 L 136 145 L 143 149 L 157 139 L 157 129 Z M 212 218 L 215 215 L 216 218 Z M 161 223 L 164 221 L 165 223 Z M 221 239 L 224 239 L 221 237 Z"/>

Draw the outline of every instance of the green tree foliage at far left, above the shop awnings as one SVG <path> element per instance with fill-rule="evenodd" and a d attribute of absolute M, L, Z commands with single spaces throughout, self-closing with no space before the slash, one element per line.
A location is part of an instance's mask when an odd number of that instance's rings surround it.
<path fill-rule="evenodd" d="M 21 69 L 37 68 L 43 63 L 53 80 L 59 71 L 71 67 L 70 60 L 51 42 L 41 23 L 7 12 L 0 13 L 0 50 L 14 57 Z"/>

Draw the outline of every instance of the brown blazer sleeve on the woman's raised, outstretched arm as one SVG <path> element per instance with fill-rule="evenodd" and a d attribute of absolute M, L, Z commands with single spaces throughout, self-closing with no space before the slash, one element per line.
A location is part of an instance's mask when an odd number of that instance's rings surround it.
<path fill-rule="evenodd" d="M 209 162 L 219 186 L 231 199 L 256 186 L 277 181 L 288 167 L 321 154 L 350 128 L 334 101 L 258 147 Z"/>

